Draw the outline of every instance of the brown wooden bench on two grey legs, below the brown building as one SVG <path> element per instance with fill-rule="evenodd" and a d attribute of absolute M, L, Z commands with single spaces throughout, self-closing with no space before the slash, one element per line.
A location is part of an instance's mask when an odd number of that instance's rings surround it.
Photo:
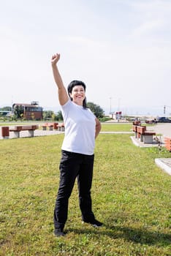
<path fill-rule="evenodd" d="M 30 137 L 34 137 L 34 131 L 38 128 L 38 125 L 20 125 L 15 126 L 14 128 L 9 128 L 9 132 L 14 132 L 15 138 L 20 138 L 20 132 L 22 131 L 28 131 Z"/>

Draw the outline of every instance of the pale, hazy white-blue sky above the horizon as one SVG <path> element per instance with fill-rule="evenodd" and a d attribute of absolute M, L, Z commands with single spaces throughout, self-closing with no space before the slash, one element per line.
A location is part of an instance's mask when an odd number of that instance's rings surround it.
<path fill-rule="evenodd" d="M 6 0 L 0 9 L 0 108 L 58 112 L 50 64 L 86 83 L 105 113 L 171 115 L 170 0 Z"/>

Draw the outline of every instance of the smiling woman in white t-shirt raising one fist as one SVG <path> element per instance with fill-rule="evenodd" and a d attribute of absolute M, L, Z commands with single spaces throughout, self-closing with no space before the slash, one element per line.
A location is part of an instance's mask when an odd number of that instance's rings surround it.
<path fill-rule="evenodd" d="M 77 178 L 79 203 L 83 222 L 96 227 L 102 226 L 91 209 L 91 183 L 94 167 L 94 144 L 101 124 L 94 114 L 86 108 L 86 85 L 74 80 L 69 83 L 68 94 L 57 62 L 60 54 L 52 56 L 53 77 L 58 87 L 58 100 L 65 124 L 65 137 L 61 147 L 60 184 L 54 211 L 56 236 L 64 236 L 68 202 Z"/>

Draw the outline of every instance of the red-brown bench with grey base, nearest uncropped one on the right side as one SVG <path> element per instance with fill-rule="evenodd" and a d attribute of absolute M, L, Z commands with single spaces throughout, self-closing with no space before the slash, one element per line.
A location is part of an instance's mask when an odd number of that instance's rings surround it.
<path fill-rule="evenodd" d="M 156 135 L 156 132 L 148 132 L 145 126 L 138 125 L 133 125 L 132 130 L 135 138 L 140 139 L 143 143 L 153 143 L 153 135 Z"/>

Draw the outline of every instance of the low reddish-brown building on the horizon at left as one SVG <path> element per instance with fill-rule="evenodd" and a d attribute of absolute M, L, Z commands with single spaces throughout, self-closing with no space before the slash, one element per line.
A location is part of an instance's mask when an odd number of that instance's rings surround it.
<path fill-rule="evenodd" d="M 42 107 L 39 107 L 38 102 L 31 102 L 31 104 L 14 103 L 12 112 L 18 113 L 18 117 L 23 116 L 26 120 L 41 120 L 43 118 Z"/>

